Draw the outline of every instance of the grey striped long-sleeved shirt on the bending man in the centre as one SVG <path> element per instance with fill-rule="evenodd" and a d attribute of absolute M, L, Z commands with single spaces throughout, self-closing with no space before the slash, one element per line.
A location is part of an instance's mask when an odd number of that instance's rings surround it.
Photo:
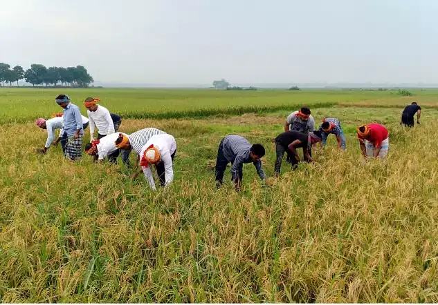
<path fill-rule="evenodd" d="M 223 138 L 223 157 L 225 157 L 228 162 L 232 163 L 231 177 L 233 180 L 235 177 L 242 177 L 244 163 L 253 162 L 249 156 L 251 146 L 252 145 L 247 139 L 239 135 L 228 135 L 227 137 Z M 259 175 L 260 179 L 263 180 L 265 176 L 262 168 L 262 161 L 253 162 L 253 164 L 257 170 L 257 175 Z"/>

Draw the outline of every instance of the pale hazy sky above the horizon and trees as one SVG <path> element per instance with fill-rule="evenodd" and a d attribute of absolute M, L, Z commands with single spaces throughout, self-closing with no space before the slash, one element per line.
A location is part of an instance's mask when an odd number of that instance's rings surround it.
<path fill-rule="evenodd" d="M 438 83 L 437 0 L 0 0 L 0 61 L 126 83 Z"/>

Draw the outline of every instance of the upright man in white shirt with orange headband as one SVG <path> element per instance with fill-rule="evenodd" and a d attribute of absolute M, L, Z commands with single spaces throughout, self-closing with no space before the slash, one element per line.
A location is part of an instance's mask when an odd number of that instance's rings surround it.
<path fill-rule="evenodd" d="M 87 97 L 84 106 L 90 119 L 90 140 L 94 141 L 94 125 L 98 127 L 98 139 L 117 132 L 122 119 L 118 115 L 110 114 L 107 108 L 98 105 L 100 99 Z"/>

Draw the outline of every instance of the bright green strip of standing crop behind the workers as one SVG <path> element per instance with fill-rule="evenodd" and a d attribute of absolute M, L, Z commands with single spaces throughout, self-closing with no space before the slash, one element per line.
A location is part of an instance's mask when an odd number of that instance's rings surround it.
<path fill-rule="evenodd" d="M 102 105 L 125 118 L 171 119 L 206 117 L 208 115 L 241 115 L 246 112 L 288 110 L 302 105 L 334 106 L 338 103 L 363 102 L 376 99 L 397 99 L 390 91 L 335 90 L 146 90 L 146 89 L 17 89 L 0 90 L 0 124 L 24 123 L 47 117 L 61 108 L 55 97 L 66 93 L 71 101 L 86 109 L 86 97 L 99 97 Z M 419 91 L 419 94 L 424 92 Z"/>

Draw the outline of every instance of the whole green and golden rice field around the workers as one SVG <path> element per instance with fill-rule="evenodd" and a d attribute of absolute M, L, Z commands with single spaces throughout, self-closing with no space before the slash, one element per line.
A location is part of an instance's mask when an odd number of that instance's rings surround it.
<path fill-rule="evenodd" d="M 152 192 L 120 164 L 36 155 L 37 117 L 67 94 L 122 115 L 122 132 L 174 135 L 175 179 Z M 438 302 L 438 90 L 0 89 L 1 302 Z M 417 101 L 421 125 L 399 125 Z M 286 116 L 337 117 L 315 164 L 273 178 Z M 364 162 L 356 126 L 390 131 L 390 153 Z M 217 146 L 239 134 L 266 148 L 270 187 L 252 164 L 241 193 L 216 190 Z M 86 130 L 84 144 L 89 140 Z M 134 163 L 131 154 L 131 163 Z"/>

